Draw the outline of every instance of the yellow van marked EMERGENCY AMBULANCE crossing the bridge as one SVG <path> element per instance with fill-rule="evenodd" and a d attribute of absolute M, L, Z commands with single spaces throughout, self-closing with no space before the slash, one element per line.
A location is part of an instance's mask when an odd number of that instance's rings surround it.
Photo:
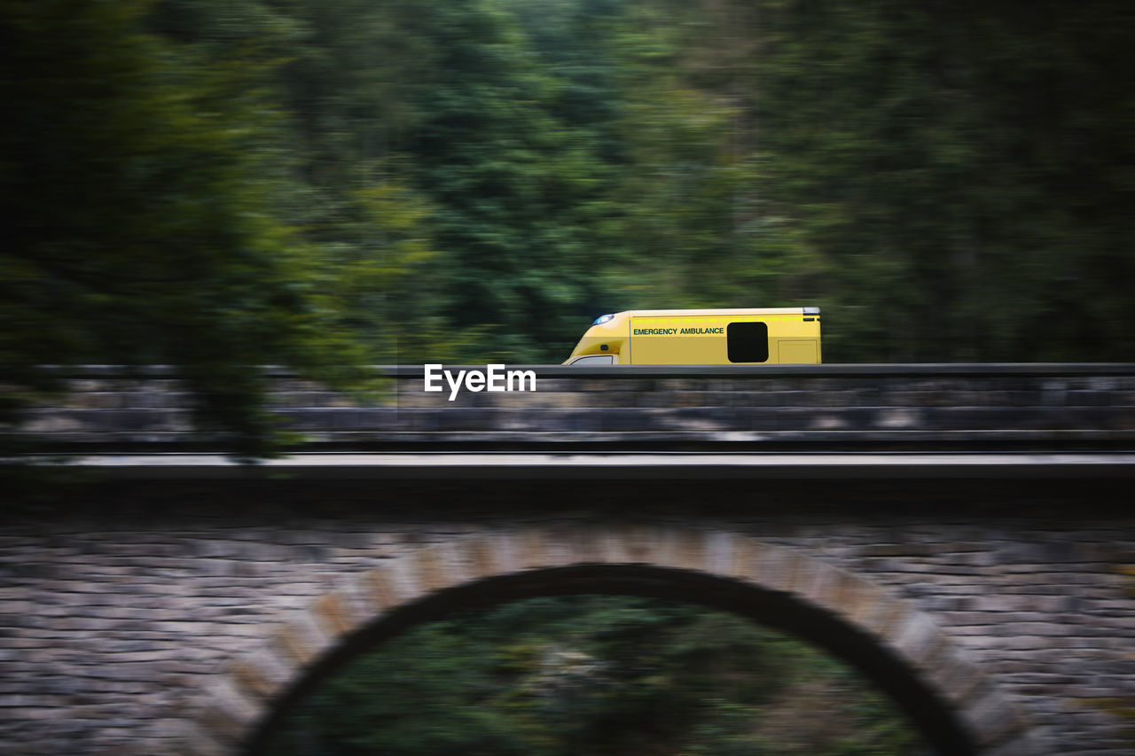
<path fill-rule="evenodd" d="M 759 308 L 599 316 L 564 364 L 818 362 L 819 308 Z"/>

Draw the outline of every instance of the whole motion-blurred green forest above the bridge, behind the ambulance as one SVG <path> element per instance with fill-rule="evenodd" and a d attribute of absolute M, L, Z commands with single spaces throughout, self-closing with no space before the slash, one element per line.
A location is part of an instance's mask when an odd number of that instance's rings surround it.
<path fill-rule="evenodd" d="M 0 0 L 2 380 L 560 362 L 818 305 L 827 362 L 1130 360 L 1117 0 Z M 8 409 L 26 398 L 8 392 Z"/>

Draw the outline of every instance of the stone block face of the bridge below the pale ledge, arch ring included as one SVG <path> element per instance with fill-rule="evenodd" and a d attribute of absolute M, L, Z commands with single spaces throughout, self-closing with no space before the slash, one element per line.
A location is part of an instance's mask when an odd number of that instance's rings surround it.
<path fill-rule="evenodd" d="M 245 753 L 296 684 L 406 607 L 653 569 L 650 590 L 717 586 L 925 692 L 968 739 L 948 753 L 1132 753 L 1135 515 L 1107 490 L 107 482 L 6 515 L 0 751 Z"/>

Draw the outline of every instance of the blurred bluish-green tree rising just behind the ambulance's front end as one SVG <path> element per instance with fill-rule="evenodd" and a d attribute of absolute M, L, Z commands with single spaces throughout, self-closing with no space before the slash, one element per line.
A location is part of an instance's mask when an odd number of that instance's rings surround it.
<path fill-rule="evenodd" d="M 574 31 L 571 19 L 546 27 L 558 44 L 545 40 L 538 52 L 497 3 L 431 11 L 440 53 L 404 150 L 415 185 L 438 209 L 431 227 L 445 257 L 432 274 L 444 314 L 454 328 L 494 326 L 486 352 L 555 359 L 577 336 L 568 324 L 594 299 L 602 259 L 592 221 L 603 159 L 572 103 L 587 76 L 556 59 L 574 47 L 562 37 Z"/>

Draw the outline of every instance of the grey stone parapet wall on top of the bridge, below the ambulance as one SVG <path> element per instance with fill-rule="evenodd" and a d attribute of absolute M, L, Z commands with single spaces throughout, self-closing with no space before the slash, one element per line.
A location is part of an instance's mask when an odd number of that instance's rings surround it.
<path fill-rule="evenodd" d="M 306 447 L 1135 440 L 1135 364 L 531 369 L 535 392 L 452 400 L 423 390 L 420 367 L 382 369 L 370 398 L 276 372 L 271 406 Z M 192 396 L 169 371 L 146 372 L 78 371 L 66 401 L 27 411 L 23 430 L 49 447 L 208 445 Z"/>

